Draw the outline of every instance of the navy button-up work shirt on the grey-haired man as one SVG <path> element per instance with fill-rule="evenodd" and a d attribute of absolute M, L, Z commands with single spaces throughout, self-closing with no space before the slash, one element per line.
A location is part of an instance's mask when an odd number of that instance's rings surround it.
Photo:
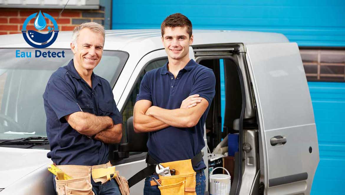
<path fill-rule="evenodd" d="M 109 116 L 114 125 L 122 123 L 112 89 L 107 80 L 92 73 L 92 88 L 76 71 L 73 59 L 55 71 L 43 94 L 47 116 L 48 158 L 57 165 L 99 165 L 107 163 L 108 145 L 74 130 L 65 116 L 73 112 L 89 112 Z"/>

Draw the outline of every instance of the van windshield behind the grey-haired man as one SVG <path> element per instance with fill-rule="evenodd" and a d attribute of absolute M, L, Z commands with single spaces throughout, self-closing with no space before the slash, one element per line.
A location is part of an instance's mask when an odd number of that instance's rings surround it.
<path fill-rule="evenodd" d="M 0 139 L 47 136 L 42 95 L 51 74 L 66 66 L 73 53 L 67 49 L 39 49 L 42 53 L 60 52 L 61 57 L 35 57 L 36 50 L 0 48 Z M 31 57 L 27 57 L 29 52 Z M 114 87 L 127 58 L 126 52 L 103 51 L 93 72 Z"/>

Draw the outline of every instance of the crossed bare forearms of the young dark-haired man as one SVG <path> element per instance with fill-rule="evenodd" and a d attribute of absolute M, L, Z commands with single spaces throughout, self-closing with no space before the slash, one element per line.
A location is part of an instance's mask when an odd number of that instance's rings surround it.
<path fill-rule="evenodd" d="M 151 132 L 173 127 L 194 127 L 208 107 L 208 101 L 191 95 L 182 101 L 178 109 L 152 106 L 149 100 L 139 100 L 134 105 L 133 123 L 135 132 Z"/>

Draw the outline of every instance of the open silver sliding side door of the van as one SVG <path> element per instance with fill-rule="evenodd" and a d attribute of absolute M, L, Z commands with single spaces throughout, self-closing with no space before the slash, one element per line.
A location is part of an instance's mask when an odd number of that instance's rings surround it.
<path fill-rule="evenodd" d="M 319 150 L 298 46 L 269 43 L 246 49 L 259 120 L 261 185 L 268 195 L 309 194 Z"/>

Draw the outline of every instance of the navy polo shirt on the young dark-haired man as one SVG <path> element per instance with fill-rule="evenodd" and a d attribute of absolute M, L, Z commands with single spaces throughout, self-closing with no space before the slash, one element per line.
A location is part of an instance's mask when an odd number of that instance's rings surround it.
<path fill-rule="evenodd" d="M 208 107 L 196 126 L 170 126 L 149 132 L 149 154 L 158 163 L 191 159 L 205 147 L 204 124 L 215 95 L 215 85 L 216 78 L 212 69 L 197 64 L 193 59 L 179 71 L 176 78 L 168 71 L 168 62 L 144 75 L 137 101 L 150 100 L 152 106 L 165 109 L 180 108 L 182 101 L 194 94 L 199 94 L 208 101 Z M 205 167 L 204 161 L 201 161 L 193 168 L 199 170 Z"/>

